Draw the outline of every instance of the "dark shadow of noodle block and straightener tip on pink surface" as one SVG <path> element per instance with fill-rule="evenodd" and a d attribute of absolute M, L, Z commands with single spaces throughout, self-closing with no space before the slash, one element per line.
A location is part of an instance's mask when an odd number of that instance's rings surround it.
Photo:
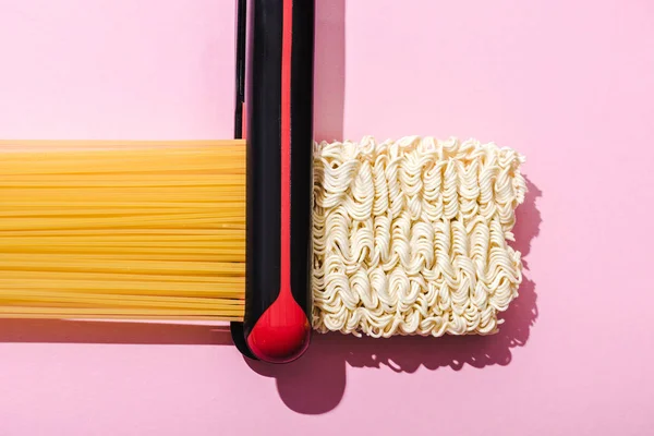
<path fill-rule="evenodd" d="M 512 244 L 523 256 L 530 252 L 531 241 L 538 235 L 541 225 L 536 198 L 542 193 L 529 180 L 528 187 L 525 202 L 517 210 L 517 241 Z M 414 373 L 421 367 L 459 371 L 465 365 L 474 368 L 508 365 L 513 358 L 512 350 L 529 340 L 538 316 L 536 299 L 536 284 L 524 277 L 519 296 L 501 315 L 505 323 L 495 335 L 389 339 L 315 335 L 306 354 L 291 364 L 270 366 L 246 362 L 258 374 L 277 379 L 279 396 L 289 409 L 303 414 L 326 413 L 334 410 L 344 395 L 348 365 L 387 367 L 397 373 Z M 308 385 L 311 389 L 306 389 Z"/>

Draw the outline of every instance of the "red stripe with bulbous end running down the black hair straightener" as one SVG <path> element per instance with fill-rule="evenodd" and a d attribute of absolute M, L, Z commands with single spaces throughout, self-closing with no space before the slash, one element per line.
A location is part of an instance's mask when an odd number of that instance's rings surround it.
<path fill-rule="evenodd" d="M 281 258 L 280 290 L 247 337 L 261 360 L 287 363 L 308 347 L 311 325 L 291 293 L 291 49 L 293 0 L 283 0 L 281 46 Z"/>

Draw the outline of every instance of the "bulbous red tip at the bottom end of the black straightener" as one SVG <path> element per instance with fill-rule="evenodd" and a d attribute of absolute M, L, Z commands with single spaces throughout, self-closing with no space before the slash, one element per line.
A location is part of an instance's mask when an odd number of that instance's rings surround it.
<path fill-rule="evenodd" d="M 268 307 L 247 336 L 247 347 L 264 362 L 289 363 L 307 349 L 311 325 L 306 314 L 290 296 L 280 298 Z"/>

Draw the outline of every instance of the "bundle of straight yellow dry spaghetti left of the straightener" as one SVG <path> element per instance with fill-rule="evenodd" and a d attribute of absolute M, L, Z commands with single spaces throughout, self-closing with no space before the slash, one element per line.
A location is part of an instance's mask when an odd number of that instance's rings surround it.
<path fill-rule="evenodd" d="M 0 149 L 0 316 L 242 318 L 242 142 Z"/>

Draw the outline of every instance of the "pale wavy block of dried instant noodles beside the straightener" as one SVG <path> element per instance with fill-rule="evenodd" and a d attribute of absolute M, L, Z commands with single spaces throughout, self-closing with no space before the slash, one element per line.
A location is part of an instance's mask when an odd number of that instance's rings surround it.
<path fill-rule="evenodd" d="M 315 149 L 314 328 L 373 337 L 495 332 L 518 295 L 523 157 L 404 137 Z"/>

